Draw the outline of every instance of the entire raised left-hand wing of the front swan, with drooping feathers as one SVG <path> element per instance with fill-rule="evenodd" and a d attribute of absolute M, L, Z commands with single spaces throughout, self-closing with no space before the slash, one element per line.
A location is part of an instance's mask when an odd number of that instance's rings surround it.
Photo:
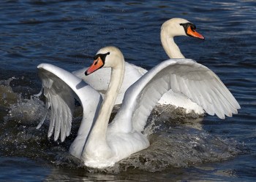
<path fill-rule="evenodd" d="M 46 111 L 51 108 L 48 137 L 54 133 L 54 141 L 61 135 L 61 141 L 69 136 L 72 126 L 72 114 L 75 98 L 83 106 L 83 133 L 89 133 L 98 105 L 101 103 L 99 92 L 83 82 L 77 76 L 47 63 L 37 66 L 39 77 L 42 79 L 43 94 L 46 98 Z M 39 122 L 37 129 L 42 126 L 46 115 Z M 53 132 L 54 130 L 54 132 Z M 79 131 L 78 131 L 79 132 Z M 87 135 L 86 134 L 86 135 Z M 86 136 L 85 136 L 86 137 Z"/>

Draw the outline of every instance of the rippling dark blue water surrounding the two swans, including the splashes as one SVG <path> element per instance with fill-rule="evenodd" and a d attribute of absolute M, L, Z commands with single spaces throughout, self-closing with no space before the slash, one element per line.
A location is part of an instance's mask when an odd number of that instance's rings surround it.
<path fill-rule="evenodd" d="M 255 181 L 255 1 L 1 1 L 0 179 L 4 181 Z M 241 105 L 232 118 L 194 118 L 155 110 L 151 146 L 105 170 L 68 154 L 35 127 L 44 111 L 39 63 L 69 71 L 89 66 L 101 47 L 119 47 L 130 63 L 167 59 L 159 28 L 171 17 L 197 25 L 205 41 L 178 37 L 186 58 L 211 68 Z M 14 78 L 12 78 L 14 76 Z M 152 122 L 151 122 L 152 121 Z"/>

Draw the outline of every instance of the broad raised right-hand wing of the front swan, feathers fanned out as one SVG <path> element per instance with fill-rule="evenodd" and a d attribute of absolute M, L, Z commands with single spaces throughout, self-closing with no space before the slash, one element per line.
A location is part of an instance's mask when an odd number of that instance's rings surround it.
<path fill-rule="evenodd" d="M 209 68 L 190 59 L 171 59 L 155 66 L 129 87 L 113 127 L 116 125 L 124 132 L 142 131 L 157 101 L 168 90 L 186 95 L 208 114 L 217 114 L 221 119 L 237 114 L 240 108 Z"/>

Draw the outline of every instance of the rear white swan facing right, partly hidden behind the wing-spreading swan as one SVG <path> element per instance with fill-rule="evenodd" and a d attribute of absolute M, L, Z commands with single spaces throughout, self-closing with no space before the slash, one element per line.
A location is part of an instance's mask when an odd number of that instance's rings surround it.
<path fill-rule="evenodd" d="M 191 36 L 197 39 L 204 39 L 204 37 L 195 31 L 196 27 L 188 20 L 182 18 L 172 18 L 162 24 L 160 38 L 162 47 L 169 56 L 169 58 L 184 58 L 181 54 L 177 44 L 175 43 L 174 36 Z M 110 82 L 110 68 L 102 68 L 92 76 L 84 76 L 86 68 L 73 72 L 80 79 L 83 79 L 86 83 L 90 84 L 94 89 L 101 92 L 104 96 L 105 90 L 108 89 L 108 83 Z M 135 66 L 131 63 L 125 62 L 125 74 L 124 82 L 121 85 L 121 89 L 118 92 L 116 104 L 120 104 L 124 98 L 124 92 L 127 88 L 140 79 L 143 74 L 146 74 L 146 69 Z M 176 107 L 185 108 L 186 113 L 194 111 L 196 114 L 203 114 L 203 108 L 196 103 L 189 100 L 178 93 L 173 93 L 171 90 L 167 92 L 159 100 L 159 104 L 172 104 Z"/>

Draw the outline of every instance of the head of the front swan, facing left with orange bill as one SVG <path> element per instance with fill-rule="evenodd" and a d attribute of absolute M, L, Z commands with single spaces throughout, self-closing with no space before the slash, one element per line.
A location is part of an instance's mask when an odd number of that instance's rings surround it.
<path fill-rule="evenodd" d="M 100 68 L 116 68 L 124 61 L 124 55 L 117 47 L 103 47 L 94 56 L 94 62 L 86 70 L 85 74 L 92 74 Z"/>

